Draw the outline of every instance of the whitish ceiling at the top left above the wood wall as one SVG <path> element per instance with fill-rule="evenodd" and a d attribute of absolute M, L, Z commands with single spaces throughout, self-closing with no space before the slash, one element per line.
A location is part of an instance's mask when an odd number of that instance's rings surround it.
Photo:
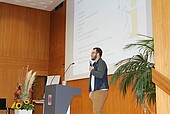
<path fill-rule="evenodd" d="M 41 9 L 46 11 L 52 11 L 64 0 L 0 0 L 0 2 L 30 7 L 35 9 Z"/>

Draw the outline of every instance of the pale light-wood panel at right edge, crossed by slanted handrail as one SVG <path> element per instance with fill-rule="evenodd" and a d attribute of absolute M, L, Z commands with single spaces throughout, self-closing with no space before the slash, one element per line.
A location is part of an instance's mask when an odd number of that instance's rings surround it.
<path fill-rule="evenodd" d="M 169 0 L 153 0 L 155 68 L 170 79 L 170 4 Z M 156 89 L 157 114 L 170 114 L 170 96 Z"/>

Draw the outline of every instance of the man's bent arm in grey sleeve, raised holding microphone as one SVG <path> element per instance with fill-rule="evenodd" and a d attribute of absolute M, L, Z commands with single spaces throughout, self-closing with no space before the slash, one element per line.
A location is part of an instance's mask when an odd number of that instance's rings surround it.
<path fill-rule="evenodd" d="M 107 68 L 107 66 L 106 66 L 105 62 L 99 61 L 99 66 L 98 66 L 97 71 L 95 69 L 92 69 L 91 73 L 92 73 L 93 76 L 101 79 L 104 76 L 106 68 Z"/>

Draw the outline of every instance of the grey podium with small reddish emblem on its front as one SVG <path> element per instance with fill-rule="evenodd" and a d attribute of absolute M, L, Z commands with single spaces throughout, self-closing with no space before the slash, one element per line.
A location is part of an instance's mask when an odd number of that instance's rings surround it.
<path fill-rule="evenodd" d="M 72 97 L 80 93 L 80 88 L 58 84 L 46 86 L 44 114 L 66 114 Z"/>

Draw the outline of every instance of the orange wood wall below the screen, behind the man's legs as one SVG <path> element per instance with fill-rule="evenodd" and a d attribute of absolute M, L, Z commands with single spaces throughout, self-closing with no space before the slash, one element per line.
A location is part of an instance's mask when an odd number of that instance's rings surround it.
<path fill-rule="evenodd" d="M 109 76 L 110 80 L 110 76 Z M 82 89 L 80 96 L 73 97 L 71 103 L 71 114 L 92 114 L 92 102 L 89 99 L 88 79 L 76 80 L 68 82 L 69 86 L 78 87 Z M 152 111 L 155 112 L 155 106 L 151 106 Z M 143 114 L 141 106 L 136 104 L 131 88 L 128 89 L 127 95 L 123 97 L 118 89 L 110 84 L 108 98 L 103 109 L 104 114 Z M 150 114 L 147 111 L 147 114 Z"/>

